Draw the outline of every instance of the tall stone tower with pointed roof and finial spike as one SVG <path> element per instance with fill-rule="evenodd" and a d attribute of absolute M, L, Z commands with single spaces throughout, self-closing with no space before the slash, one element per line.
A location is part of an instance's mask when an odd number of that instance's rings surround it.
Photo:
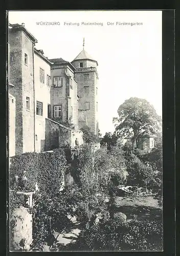
<path fill-rule="evenodd" d="M 98 62 L 84 50 L 83 44 L 83 50 L 71 63 L 76 68 L 79 110 L 86 111 L 87 126 L 98 134 Z"/>

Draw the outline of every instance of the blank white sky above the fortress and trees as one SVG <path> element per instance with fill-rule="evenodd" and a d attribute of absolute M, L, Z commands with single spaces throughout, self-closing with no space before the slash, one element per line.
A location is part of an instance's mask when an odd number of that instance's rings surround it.
<path fill-rule="evenodd" d="M 114 132 L 113 117 L 130 97 L 148 100 L 162 116 L 162 11 L 9 11 L 8 18 L 25 23 L 48 58 L 71 62 L 85 38 L 84 50 L 98 61 L 102 135 Z"/>

